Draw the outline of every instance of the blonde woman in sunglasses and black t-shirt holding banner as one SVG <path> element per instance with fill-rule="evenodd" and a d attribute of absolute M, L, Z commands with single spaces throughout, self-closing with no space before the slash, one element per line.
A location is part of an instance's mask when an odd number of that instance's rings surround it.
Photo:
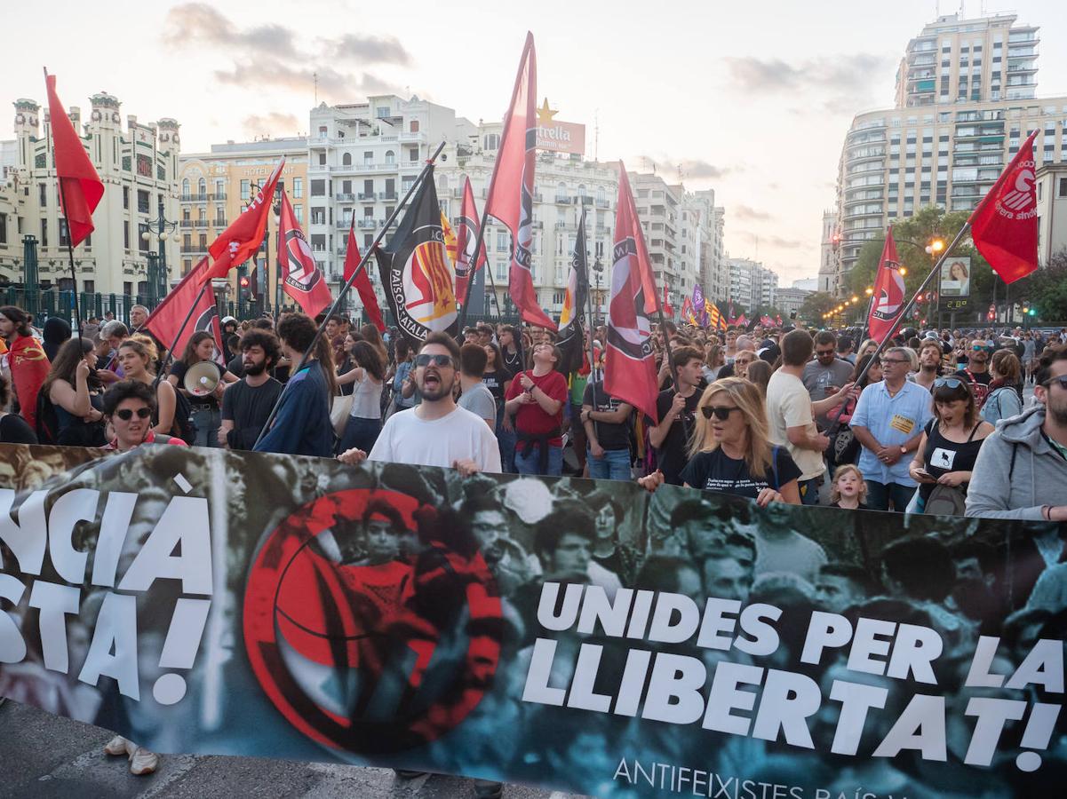
<path fill-rule="evenodd" d="M 770 502 L 800 505 L 800 469 L 785 447 L 773 445 L 760 389 L 742 378 L 712 383 L 697 404 L 697 424 L 689 438 L 689 463 L 682 484 Z M 662 472 L 638 483 L 655 491 Z"/>

